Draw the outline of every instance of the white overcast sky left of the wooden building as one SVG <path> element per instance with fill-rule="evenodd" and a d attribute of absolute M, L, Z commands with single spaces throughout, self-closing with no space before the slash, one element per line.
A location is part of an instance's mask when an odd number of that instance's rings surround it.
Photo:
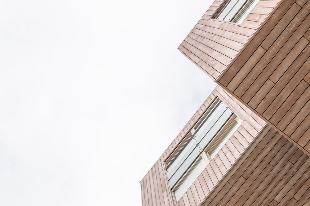
<path fill-rule="evenodd" d="M 141 205 L 215 87 L 177 50 L 211 1 L 0 0 L 0 205 Z"/>

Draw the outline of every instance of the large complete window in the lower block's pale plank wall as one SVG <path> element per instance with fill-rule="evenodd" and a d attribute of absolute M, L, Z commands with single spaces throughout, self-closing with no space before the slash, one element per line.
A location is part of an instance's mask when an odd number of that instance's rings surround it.
<path fill-rule="evenodd" d="M 188 132 L 166 160 L 169 186 L 176 202 L 215 157 L 240 123 L 240 119 L 217 98 Z"/>

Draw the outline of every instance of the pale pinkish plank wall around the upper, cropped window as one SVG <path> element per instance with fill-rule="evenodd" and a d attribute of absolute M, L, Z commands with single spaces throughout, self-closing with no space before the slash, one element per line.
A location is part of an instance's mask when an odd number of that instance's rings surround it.
<path fill-rule="evenodd" d="M 215 1 L 178 48 L 213 80 L 219 77 L 279 1 L 259 1 L 241 24 L 210 19 L 225 2 Z"/>

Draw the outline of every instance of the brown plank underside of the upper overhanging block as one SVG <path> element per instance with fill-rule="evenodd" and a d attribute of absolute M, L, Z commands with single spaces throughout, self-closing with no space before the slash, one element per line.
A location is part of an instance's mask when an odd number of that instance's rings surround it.
<path fill-rule="evenodd" d="M 310 154 L 310 1 L 286 0 L 216 82 Z"/>

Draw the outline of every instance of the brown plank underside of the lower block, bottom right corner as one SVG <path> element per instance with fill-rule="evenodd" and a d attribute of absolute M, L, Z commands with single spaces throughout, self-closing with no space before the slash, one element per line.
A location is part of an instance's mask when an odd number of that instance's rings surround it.
<path fill-rule="evenodd" d="M 267 125 L 205 205 L 309 205 L 310 158 Z"/>

